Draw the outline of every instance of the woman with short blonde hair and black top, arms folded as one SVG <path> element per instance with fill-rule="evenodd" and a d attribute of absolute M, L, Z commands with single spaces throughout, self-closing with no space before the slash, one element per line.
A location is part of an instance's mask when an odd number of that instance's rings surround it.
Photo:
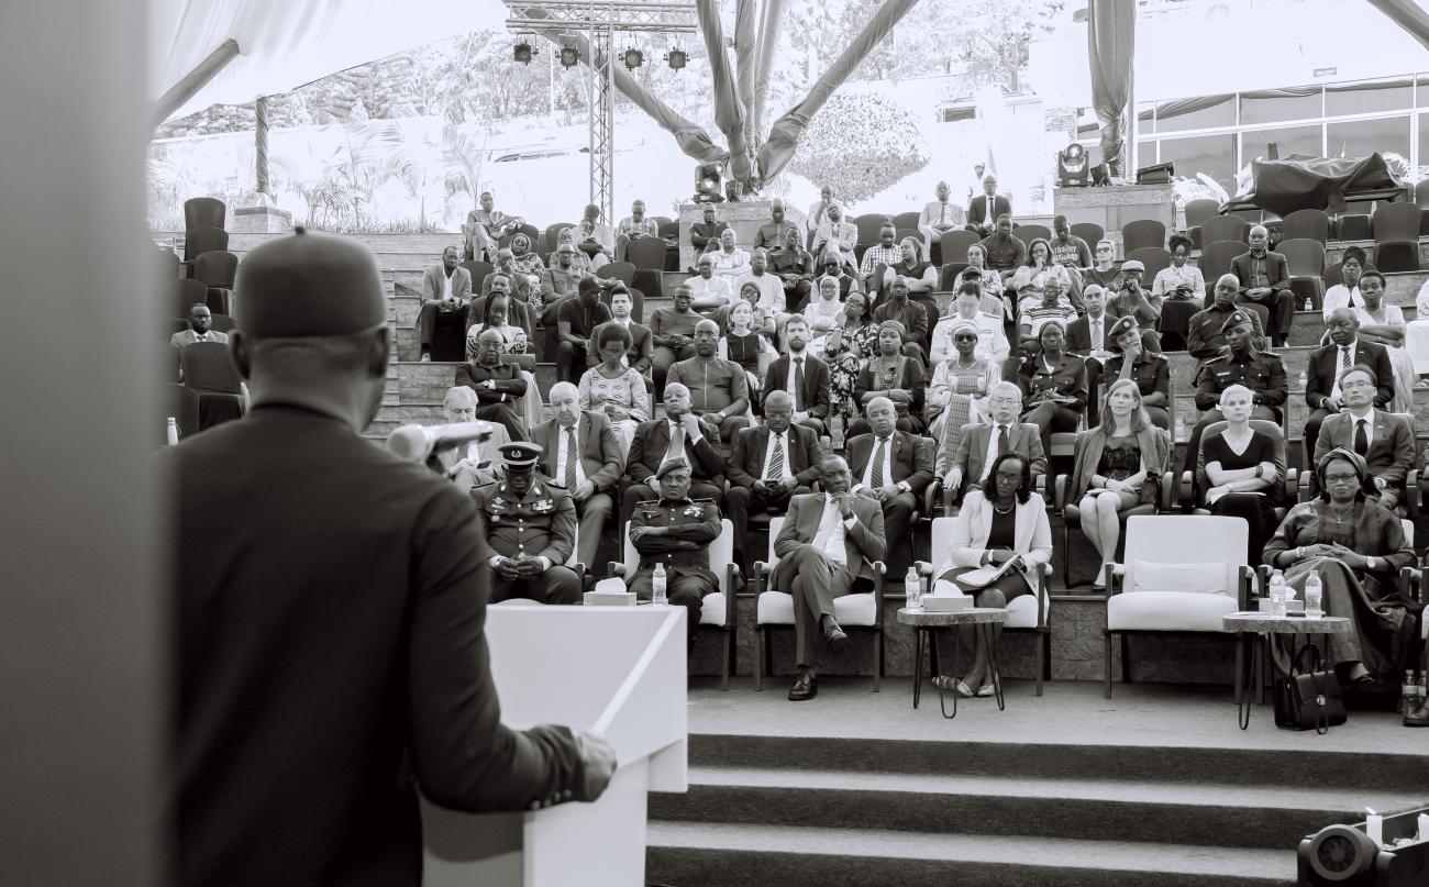
<path fill-rule="evenodd" d="M 1205 470 L 1195 480 L 1200 507 L 1246 521 L 1246 563 L 1258 567 L 1285 496 L 1285 466 L 1275 457 L 1275 439 L 1250 427 L 1250 389 L 1236 384 L 1220 393 L 1226 427 L 1200 440 Z"/>

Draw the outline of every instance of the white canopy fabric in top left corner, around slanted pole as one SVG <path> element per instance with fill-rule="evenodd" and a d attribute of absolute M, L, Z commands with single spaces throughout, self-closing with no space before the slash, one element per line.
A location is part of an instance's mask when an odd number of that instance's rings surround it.
<path fill-rule="evenodd" d="M 247 104 L 504 20 L 500 0 L 149 0 L 149 97 L 163 96 L 229 39 L 237 59 L 170 117 Z"/>

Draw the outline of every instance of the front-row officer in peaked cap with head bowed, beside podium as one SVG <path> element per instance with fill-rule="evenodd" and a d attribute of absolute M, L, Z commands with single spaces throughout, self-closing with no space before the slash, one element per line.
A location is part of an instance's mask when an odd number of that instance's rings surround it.
<path fill-rule="evenodd" d="M 579 604 L 580 580 L 566 560 L 576 547 L 576 503 L 570 493 L 536 476 L 540 447 L 502 447 L 506 477 L 476 487 L 477 536 L 494 554 L 484 578 L 492 603 L 524 597 L 544 604 Z"/>

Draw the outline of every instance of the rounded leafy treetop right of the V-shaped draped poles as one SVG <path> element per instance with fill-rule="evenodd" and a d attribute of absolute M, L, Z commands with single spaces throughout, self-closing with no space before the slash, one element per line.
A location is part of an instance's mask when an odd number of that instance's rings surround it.
<path fill-rule="evenodd" d="M 835 93 L 815 114 L 789 169 L 816 184 L 833 183 L 859 201 L 927 166 L 917 121 L 883 96 Z"/>

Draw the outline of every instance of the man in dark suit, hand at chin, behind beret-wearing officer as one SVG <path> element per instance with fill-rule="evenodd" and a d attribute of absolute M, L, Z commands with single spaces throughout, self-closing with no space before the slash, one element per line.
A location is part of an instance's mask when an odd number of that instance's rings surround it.
<path fill-rule="evenodd" d="M 620 523 L 630 520 L 634 506 L 660 497 L 654 473 L 670 458 L 690 466 L 690 497 L 723 503 L 725 457 L 704 437 L 704 429 L 690 411 L 690 390 L 677 381 L 664 386 L 664 419 L 642 421 L 626 454 L 624 491 L 620 494 Z"/>

